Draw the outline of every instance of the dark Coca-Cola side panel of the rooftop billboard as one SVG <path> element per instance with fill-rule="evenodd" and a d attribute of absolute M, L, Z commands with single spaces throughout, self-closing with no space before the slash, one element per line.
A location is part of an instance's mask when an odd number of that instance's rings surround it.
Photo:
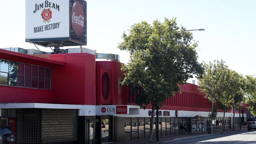
<path fill-rule="evenodd" d="M 87 44 L 86 1 L 70 0 L 70 39 Z"/>

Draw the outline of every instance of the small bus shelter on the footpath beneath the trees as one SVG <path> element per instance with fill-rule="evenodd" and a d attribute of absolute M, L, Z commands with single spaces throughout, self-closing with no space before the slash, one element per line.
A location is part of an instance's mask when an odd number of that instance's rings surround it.
<path fill-rule="evenodd" d="M 206 118 L 200 115 L 191 118 L 192 133 L 205 133 L 205 122 Z"/>

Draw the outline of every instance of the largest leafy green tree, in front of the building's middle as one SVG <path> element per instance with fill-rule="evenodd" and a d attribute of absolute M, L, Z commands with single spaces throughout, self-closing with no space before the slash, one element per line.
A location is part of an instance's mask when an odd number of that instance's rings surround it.
<path fill-rule="evenodd" d="M 130 52 L 127 65 L 122 65 L 125 77 L 121 85 L 129 86 L 136 94 L 135 102 L 144 108 L 152 105 L 150 136 L 156 110 L 158 132 L 158 110 L 164 100 L 179 91 L 179 84 L 186 83 L 193 74 L 202 72 L 197 62 L 197 42 L 192 44 L 192 33 L 178 28 L 176 18 L 165 18 L 161 23 L 145 21 L 131 26 L 128 34 L 122 35 L 123 41 L 118 45 L 120 50 Z M 157 133 L 158 140 L 158 133 Z"/>

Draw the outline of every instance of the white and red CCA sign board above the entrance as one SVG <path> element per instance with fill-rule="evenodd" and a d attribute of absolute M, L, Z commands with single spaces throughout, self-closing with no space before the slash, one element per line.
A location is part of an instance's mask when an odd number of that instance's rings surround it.
<path fill-rule="evenodd" d="M 100 114 L 127 114 L 127 105 L 101 105 Z"/>

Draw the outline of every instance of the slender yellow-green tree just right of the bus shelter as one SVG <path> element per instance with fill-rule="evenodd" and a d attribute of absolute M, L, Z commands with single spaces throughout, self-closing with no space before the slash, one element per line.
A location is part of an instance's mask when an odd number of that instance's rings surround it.
<path fill-rule="evenodd" d="M 217 108 L 215 103 L 223 96 L 226 85 L 226 72 L 228 66 L 224 65 L 224 61 L 215 60 L 213 63 L 204 63 L 204 72 L 198 78 L 199 89 L 206 94 L 206 98 L 211 101 L 211 114 L 209 116 L 211 121 L 217 116 Z M 213 126 L 211 125 L 211 133 L 213 133 Z"/>

